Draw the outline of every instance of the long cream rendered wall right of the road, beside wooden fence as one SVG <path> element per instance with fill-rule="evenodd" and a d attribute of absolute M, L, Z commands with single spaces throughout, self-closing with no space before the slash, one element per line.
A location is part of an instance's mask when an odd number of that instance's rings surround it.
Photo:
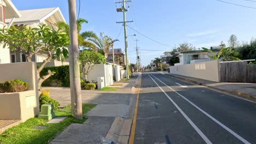
<path fill-rule="evenodd" d="M 170 67 L 171 74 L 196 77 L 209 81 L 220 81 L 219 62 L 208 61 L 200 63 L 191 63 L 184 65 L 175 65 Z"/>

